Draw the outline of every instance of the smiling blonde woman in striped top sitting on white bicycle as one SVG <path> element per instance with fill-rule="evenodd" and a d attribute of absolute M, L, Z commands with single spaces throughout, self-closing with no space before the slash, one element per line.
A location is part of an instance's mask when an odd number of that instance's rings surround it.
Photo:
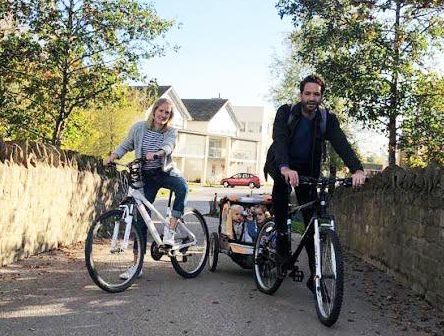
<path fill-rule="evenodd" d="M 142 167 L 143 191 L 151 203 L 154 202 L 160 188 L 170 189 L 175 198 L 169 227 L 165 226 L 163 243 L 174 246 L 174 235 L 177 220 L 183 215 L 188 186 L 178 170 L 173 167 L 171 153 L 176 145 L 177 130 L 170 126 L 174 116 L 173 104 L 166 98 L 158 99 L 148 116 L 147 121 L 134 124 L 128 137 L 110 155 L 106 163 L 121 158 L 127 152 L 134 150 L 136 158 L 145 158 Z M 141 226 L 144 248 L 147 239 L 147 229 Z M 139 274 L 140 276 L 140 274 Z"/>

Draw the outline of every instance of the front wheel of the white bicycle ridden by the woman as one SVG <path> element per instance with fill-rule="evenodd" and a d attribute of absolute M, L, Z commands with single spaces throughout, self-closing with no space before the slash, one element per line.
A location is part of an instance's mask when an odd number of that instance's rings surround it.
<path fill-rule="evenodd" d="M 122 210 L 105 212 L 91 226 L 85 244 L 85 262 L 88 273 L 97 286 L 110 293 L 127 289 L 143 265 L 143 249 L 140 229 L 133 222 L 128 245 L 124 246 L 126 223 Z M 132 272 L 129 272 L 130 267 Z M 129 277 L 121 275 L 128 271 Z"/>

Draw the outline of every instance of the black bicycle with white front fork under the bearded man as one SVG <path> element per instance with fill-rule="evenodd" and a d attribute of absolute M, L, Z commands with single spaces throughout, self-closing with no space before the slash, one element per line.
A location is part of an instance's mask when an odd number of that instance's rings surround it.
<path fill-rule="evenodd" d="M 317 198 L 311 202 L 295 207 L 291 215 L 297 211 L 313 208 L 313 216 L 302 235 L 296 251 L 291 255 L 290 262 L 283 267 L 277 254 L 277 231 L 274 222 L 264 225 L 258 235 L 254 251 L 254 278 L 258 289 L 266 294 L 273 294 L 281 285 L 289 272 L 294 281 L 301 282 L 304 273 L 296 266 L 298 257 L 308 239 L 308 232 L 314 231 L 315 274 L 314 295 L 316 312 L 319 320 L 326 326 L 332 326 L 341 311 L 344 291 L 344 266 L 341 245 L 335 227 L 333 215 L 328 214 L 328 188 L 339 184 L 351 186 L 351 178 L 312 178 L 300 177 L 299 184 L 316 186 Z M 289 227 L 289 237 L 291 225 Z M 314 230 L 313 230 L 314 227 Z M 291 240 L 290 240 L 291 246 Z M 291 247 L 290 247 L 291 249 Z"/>

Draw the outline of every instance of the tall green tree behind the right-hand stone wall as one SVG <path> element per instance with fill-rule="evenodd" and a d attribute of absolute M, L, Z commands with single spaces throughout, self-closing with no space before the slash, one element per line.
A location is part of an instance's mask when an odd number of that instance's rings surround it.
<path fill-rule="evenodd" d="M 402 117 L 414 108 L 424 61 L 444 37 L 443 1 L 280 0 L 292 16 L 298 60 L 345 100 L 347 112 L 389 138 L 395 164 Z"/>

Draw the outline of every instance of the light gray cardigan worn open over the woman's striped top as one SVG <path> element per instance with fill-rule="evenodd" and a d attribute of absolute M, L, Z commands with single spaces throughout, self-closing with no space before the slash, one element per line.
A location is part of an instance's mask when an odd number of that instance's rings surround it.
<path fill-rule="evenodd" d="M 129 130 L 128 136 L 113 152 L 118 158 L 121 158 L 130 151 L 135 151 L 136 158 L 142 157 L 142 142 L 145 132 L 148 130 L 146 121 L 139 121 L 135 123 Z M 177 129 L 174 127 L 167 127 L 163 133 L 164 140 L 160 149 L 165 152 L 162 169 L 164 172 L 172 176 L 180 176 L 180 171 L 174 168 L 171 153 L 176 145 Z"/>

